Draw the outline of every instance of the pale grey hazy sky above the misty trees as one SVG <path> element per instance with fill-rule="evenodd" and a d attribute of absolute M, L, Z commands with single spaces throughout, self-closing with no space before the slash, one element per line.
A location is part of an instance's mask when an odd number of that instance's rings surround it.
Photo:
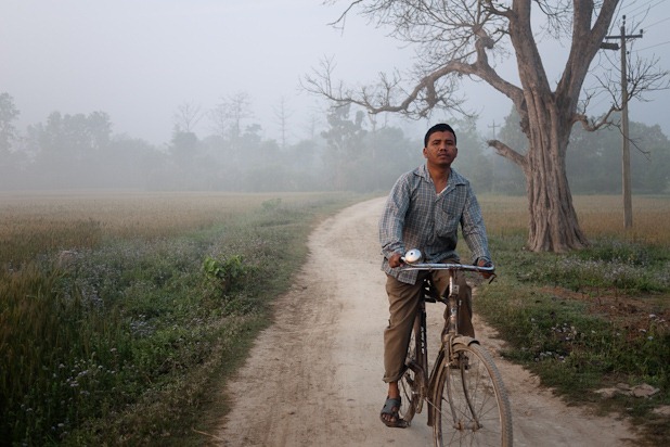
<path fill-rule="evenodd" d="M 628 24 L 645 29 L 632 50 L 644 58 L 655 54 L 670 69 L 670 1 L 622 3 Z M 22 131 L 53 111 L 103 111 L 115 133 L 155 144 L 169 141 L 180 104 L 207 111 L 237 92 L 248 93 L 254 122 L 262 125 L 265 137 L 278 138 L 274 111 L 284 98 L 295 141 L 307 135 L 307 116 L 320 114 L 314 110 L 324 106 L 300 91 L 298 81 L 324 56 L 334 56 L 336 76 L 352 84 L 370 82 L 378 72 L 411 64 L 410 51 L 361 18 L 350 17 L 344 33 L 327 26 L 346 4 L 0 0 L 0 92 L 14 98 Z M 618 34 L 620 22 L 615 23 Z M 481 114 L 481 129 L 502 123 L 510 112 L 508 100 L 488 86 L 471 84 L 465 91 L 468 105 Z M 631 104 L 630 119 L 659 124 L 670 135 L 670 92 L 653 98 Z M 206 118 L 195 130 L 199 137 L 210 133 Z"/>

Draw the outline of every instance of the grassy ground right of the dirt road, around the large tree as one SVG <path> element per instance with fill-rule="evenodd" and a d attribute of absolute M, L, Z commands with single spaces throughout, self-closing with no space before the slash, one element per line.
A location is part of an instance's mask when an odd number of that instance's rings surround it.
<path fill-rule="evenodd" d="M 635 197 L 630 232 L 620 197 L 576 197 L 591 246 L 565 254 L 523 250 L 524 200 L 481 202 L 498 278 L 480 288 L 476 311 L 507 342 L 504 357 L 568 404 L 630 417 L 649 445 L 666 445 L 670 197 Z"/>

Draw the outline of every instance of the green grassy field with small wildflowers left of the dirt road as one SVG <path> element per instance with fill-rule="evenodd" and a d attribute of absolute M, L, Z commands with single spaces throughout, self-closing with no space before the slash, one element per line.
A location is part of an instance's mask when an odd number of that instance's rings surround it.
<path fill-rule="evenodd" d="M 355 200 L 0 197 L 0 445 L 202 445 L 310 229 Z"/>

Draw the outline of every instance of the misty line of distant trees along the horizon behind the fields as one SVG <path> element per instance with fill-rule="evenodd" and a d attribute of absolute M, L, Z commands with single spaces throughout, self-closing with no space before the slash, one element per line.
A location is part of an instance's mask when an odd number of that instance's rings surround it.
<path fill-rule="evenodd" d="M 320 132 L 297 143 L 261 137 L 243 97 L 210 117 L 219 126 L 199 138 L 197 107 L 181 106 L 170 142 L 157 148 L 114 135 L 104 112 L 51 113 L 44 123 L 16 128 L 20 116 L 9 93 L 0 93 L 0 190 L 132 189 L 186 191 L 357 191 L 383 192 L 397 177 L 423 163 L 423 135 L 377 127 L 349 106 L 326 112 Z M 248 124 L 245 124 L 247 123 Z M 451 119 L 459 140 L 454 167 L 478 192 L 523 194 L 516 165 L 491 153 L 474 119 Z M 506 141 L 526 138 L 518 118 L 500 130 Z M 631 123 L 635 193 L 669 192 L 670 144 L 658 126 Z M 621 135 L 616 128 L 587 132 L 575 127 L 567 170 L 572 193 L 620 193 Z"/>

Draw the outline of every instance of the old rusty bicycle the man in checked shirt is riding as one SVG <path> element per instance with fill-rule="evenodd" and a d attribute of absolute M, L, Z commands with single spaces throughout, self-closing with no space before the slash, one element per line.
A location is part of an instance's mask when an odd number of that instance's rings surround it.
<path fill-rule="evenodd" d="M 494 267 L 463 264 L 420 263 L 418 250 L 405 253 L 404 269 L 449 270 L 448 296 L 436 296 L 429 279 L 424 280 L 421 305 L 398 385 L 402 397 L 400 417 L 407 425 L 428 407 L 435 446 L 485 445 L 511 447 L 512 410 L 507 392 L 493 359 L 475 339 L 459 334 L 455 271 L 493 273 Z M 426 302 L 439 302 L 444 309 L 441 346 L 428 374 Z"/>

